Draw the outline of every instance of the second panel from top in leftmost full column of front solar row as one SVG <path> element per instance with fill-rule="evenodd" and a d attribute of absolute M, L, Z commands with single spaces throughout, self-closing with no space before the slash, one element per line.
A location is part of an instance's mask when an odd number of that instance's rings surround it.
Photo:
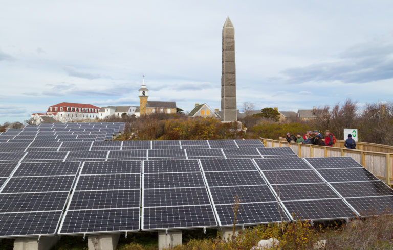
<path fill-rule="evenodd" d="M 12 177 L 1 193 L 70 191 L 75 176 Z"/>

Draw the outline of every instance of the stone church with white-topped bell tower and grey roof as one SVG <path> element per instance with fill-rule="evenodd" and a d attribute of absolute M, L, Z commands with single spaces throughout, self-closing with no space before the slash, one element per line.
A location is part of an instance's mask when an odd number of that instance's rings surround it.
<path fill-rule="evenodd" d="M 139 89 L 139 114 L 136 112 L 136 116 L 155 112 L 176 114 L 176 102 L 148 101 L 148 97 L 149 90 L 146 88 L 145 79 L 143 79 L 142 86 Z"/>

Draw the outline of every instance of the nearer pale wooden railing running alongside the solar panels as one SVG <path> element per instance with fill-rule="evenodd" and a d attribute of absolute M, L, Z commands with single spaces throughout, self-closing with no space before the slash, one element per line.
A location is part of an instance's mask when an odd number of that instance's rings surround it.
<path fill-rule="evenodd" d="M 338 147 L 288 143 L 287 141 L 277 141 L 265 138 L 259 139 L 266 147 L 290 147 L 299 157 L 303 158 L 350 156 L 379 179 L 386 182 L 387 185 L 391 186 L 391 183 L 393 183 L 393 154 L 364 151 L 359 149 L 354 150 Z"/>

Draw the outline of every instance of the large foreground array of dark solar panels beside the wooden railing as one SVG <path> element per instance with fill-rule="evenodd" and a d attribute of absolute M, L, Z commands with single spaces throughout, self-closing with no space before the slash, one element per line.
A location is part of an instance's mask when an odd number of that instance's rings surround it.
<path fill-rule="evenodd" d="M 258 140 L 24 140 L 0 142 L 0 237 L 229 227 L 235 196 L 239 225 L 393 207 L 393 190 L 351 158 Z"/>

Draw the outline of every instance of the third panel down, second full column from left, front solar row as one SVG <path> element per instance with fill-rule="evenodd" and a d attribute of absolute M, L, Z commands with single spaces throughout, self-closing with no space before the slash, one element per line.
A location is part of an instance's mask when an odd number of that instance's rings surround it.
<path fill-rule="evenodd" d="M 68 210 L 139 208 L 141 194 L 135 190 L 77 191 Z"/>

